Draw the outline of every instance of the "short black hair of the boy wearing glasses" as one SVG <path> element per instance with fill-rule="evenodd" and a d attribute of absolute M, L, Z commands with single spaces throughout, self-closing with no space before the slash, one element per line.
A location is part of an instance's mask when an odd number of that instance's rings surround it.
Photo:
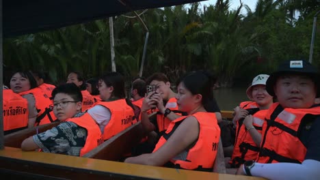
<path fill-rule="evenodd" d="M 64 85 L 57 86 L 51 93 L 53 99 L 57 93 L 65 93 L 70 95 L 70 97 L 76 102 L 82 102 L 83 100 L 81 90 L 79 87 L 77 87 L 77 85 L 75 85 L 75 83 L 66 83 Z"/>

